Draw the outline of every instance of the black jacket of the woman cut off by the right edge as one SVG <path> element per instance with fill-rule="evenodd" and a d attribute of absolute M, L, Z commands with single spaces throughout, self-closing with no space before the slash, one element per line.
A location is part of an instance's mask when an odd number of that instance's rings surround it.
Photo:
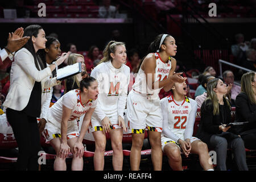
<path fill-rule="evenodd" d="M 244 92 L 241 92 L 236 97 L 236 121 L 249 121 L 248 124 L 238 127 L 241 135 L 245 131 L 256 129 L 256 105 L 250 103 L 249 98 Z"/>

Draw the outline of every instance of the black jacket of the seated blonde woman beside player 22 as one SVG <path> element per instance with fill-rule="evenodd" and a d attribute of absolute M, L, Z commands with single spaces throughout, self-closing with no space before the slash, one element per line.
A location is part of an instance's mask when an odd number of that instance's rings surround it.
<path fill-rule="evenodd" d="M 221 123 L 228 124 L 231 122 L 230 109 L 225 100 L 223 116 L 224 118 L 222 118 L 221 110 L 220 114 L 213 115 L 212 101 L 205 100 L 201 106 L 201 119 L 196 137 L 209 145 L 210 137 L 212 137 L 213 134 L 222 134 L 222 131 L 220 131 L 218 127 L 221 125 Z M 230 129 L 228 131 L 231 133 L 236 133 L 236 131 L 232 131 Z"/>

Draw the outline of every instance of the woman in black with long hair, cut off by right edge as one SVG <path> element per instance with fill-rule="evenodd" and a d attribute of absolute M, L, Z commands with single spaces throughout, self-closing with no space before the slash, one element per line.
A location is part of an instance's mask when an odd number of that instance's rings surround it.
<path fill-rule="evenodd" d="M 236 97 L 236 121 L 249 122 L 237 127 L 245 147 L 256 149 L 256 74 L 247 72 L 241 78 L 241 93 Z"/>

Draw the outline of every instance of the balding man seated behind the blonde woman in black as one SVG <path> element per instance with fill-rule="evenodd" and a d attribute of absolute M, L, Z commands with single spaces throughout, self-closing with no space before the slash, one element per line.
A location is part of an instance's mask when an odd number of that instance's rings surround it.
<path fill-rule="evenodd" d="M 231 89 L 226 94 L 226 96 L 229 98 L 229 101 L 231 102 L 231 106 L 234 106 L 234 101 L 236 100 L 237 95 L 241 92 L 241 86 L 234 84 L 234 74 L 232 71 L 227 70 L 223 72 L 222 74 L 224 84 L 230 85 Z"/>

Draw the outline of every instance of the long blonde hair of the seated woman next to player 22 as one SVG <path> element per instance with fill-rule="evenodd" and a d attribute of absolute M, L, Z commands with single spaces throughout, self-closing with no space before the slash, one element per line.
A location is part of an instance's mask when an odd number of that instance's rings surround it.
<path fill-rule="evenodd" d="M 218 107 L 218 97 L 216 95 L 216 93 L 213 91 L 214 88 L 217 87 L 218 84 L 218 80 L 220 80 L 219 78 L 214 78 L 213 80 L 210 80 L 207 83 L 207 98 L 205 101 L 210 100 L 212 101 L 212 105 L 213 105 L 213 115 L 218 115 L 220 114 L 220 109 Z M 228 99 L 226 97 L 223 97 L 224 102 L 226 101 L 226 103 L 229 106 L 229 109 L 231 109 L 231 105 L 228 101 Z"/>

